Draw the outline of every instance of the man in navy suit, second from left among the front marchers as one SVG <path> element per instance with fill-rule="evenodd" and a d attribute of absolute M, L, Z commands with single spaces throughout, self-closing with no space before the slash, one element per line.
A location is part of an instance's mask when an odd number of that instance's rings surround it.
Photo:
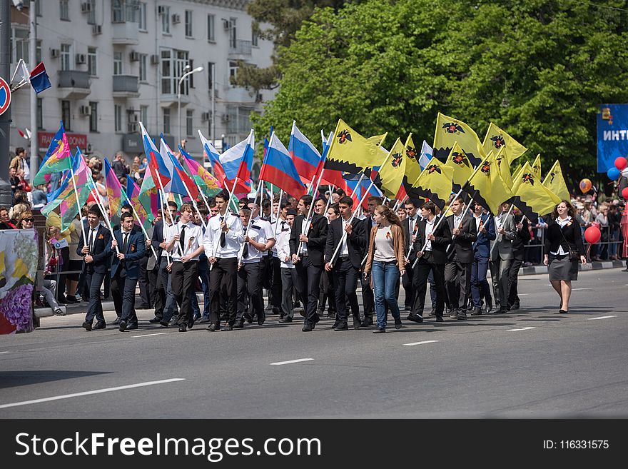
<path fill-rule="evenodd" d="M 137 329 L 135 288 L 138 283 L 139 263 L 146 253 L 146 240 L 141 231 L 133 230 L 131 213 L 121 215 L 120 226 L 121 229 L 113 231 L 111 240 L 111 250 L 114 251 L 111 262 L 111 296 L 116 315 L 120 318 L 118 328 L 124 332 L 126 329 Z"/>

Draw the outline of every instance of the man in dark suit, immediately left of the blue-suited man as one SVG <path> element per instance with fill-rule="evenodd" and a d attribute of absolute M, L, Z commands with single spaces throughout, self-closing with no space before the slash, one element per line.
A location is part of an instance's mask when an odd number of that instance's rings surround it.
<path fill-rule="evenodd" d="M 477 228 L 462 198 L 453 199 L 450 208 L 452 215 L 447 217 L 447 224 L 452 232 L 452 244 L 447 248 L 445 264 L 447 297 L 452 308 L 451 317 L 466 319 L 471 289 L 473 243 L 477 241 Z"/>

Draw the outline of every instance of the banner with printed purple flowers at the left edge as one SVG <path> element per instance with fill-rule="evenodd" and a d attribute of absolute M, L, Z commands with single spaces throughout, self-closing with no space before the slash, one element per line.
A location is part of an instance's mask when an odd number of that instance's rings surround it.
<path fill-rule="evenodd" d="M 35 230 L 0 230 L 0 334 L 33 331 Z"/>

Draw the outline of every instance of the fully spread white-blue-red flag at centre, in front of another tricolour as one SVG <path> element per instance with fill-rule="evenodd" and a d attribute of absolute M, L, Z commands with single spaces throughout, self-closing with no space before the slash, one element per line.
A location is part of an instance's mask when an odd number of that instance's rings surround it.
<path fill-rule="evenodd" d="M 293 125 L 293 131 L 294 129 L 295 126 Z M 290 141 L 292 138 L 290 136 Z M 314 177 L 314 174 L 311 177 Z M 293 159 L 290 158 L 290 152 L 283 146 L 275 132 L 270 136 L 268 151 L 266 151 L 260 170 L 260 181 L 273 183 L 297 199 L 308 192 L 308 188 L 301 182 Z"/>

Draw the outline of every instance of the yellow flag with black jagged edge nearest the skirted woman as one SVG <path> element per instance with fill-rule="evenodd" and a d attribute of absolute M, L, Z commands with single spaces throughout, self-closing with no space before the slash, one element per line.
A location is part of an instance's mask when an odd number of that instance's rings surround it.
<path fill-rule="evenodd" d="M 543 186 L 527 161 L 521 175 L 515 180 L 512 193 L 512 203 L 531 221 L 552 212 L 557 203 L 560 203 L 560 197 Z"/>

